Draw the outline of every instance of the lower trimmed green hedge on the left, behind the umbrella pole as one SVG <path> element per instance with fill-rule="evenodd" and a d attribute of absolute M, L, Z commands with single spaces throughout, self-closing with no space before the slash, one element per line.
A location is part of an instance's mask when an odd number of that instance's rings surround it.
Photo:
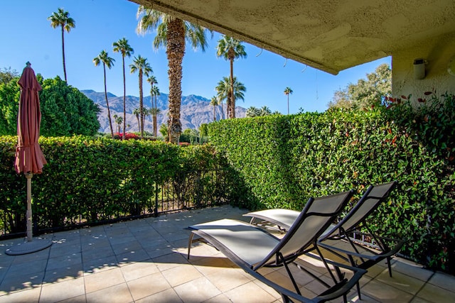
<path fill-rule="evenodd" d="M 25 231 L 26 179 L 14 171 L 16 142 L 0 137 L 0 222 L 8 233 Z M 32 179 L 38 228 L 153 214 L 156 184 L 160 194 L 166 184 L 181 208 L 238 199 L 232 171 L 210 145 L 82 136 L 41 137 L 40 145 L 48 164 Z"/>

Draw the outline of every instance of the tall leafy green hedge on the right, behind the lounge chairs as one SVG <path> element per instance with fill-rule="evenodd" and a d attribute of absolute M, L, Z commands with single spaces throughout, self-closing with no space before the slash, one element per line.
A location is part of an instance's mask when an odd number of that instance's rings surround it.
<path fill-rule="evenodd" d="M 407 238 L 402 253 L 453 272 L 453 165 L 384 111 L 223 120 L 208 132 L 245 182 L 249 209 L 301 209 L 309 197 L 348 189 L 358 198 L 370 184 L 398 180 L 373 229 Z"/>

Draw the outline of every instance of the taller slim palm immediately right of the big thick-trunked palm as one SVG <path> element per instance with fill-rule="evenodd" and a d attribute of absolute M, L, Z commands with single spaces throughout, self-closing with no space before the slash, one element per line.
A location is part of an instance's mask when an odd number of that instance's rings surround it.
<path fill-rule="evenodd" d="M 240 40 L 237 40 L 227 35 L 223 35 L 218 40 L 217 52 L 218 57 L 224 57 L 230 62 L 230 99 L 228 99 L 228 116 L 235 118 L 235 94 L 234 94 L 234 59 L 239 57 L 247 57 L 245 46 Z"/>

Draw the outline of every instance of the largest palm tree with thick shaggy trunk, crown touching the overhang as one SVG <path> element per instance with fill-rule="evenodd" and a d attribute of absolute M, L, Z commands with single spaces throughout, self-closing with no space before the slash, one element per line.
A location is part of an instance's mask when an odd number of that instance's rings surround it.
<path fill-rule="evenodd" d="M 181 106 L 181 79 L 182 61 L 185 55 L 185 42 L 191 43 L 194 49 L 200 47 L 203 51 L 207 48 L 207 30 L 202 26 L 183 21 L 180 18 L 169 16 L 166 13 L 146 9 L 139 6 L 137 9 L 137 32 L 145 34 L 149 30 L 156 30 L 154 48 L 166 47 L 168 57 L 169 77 L 169 116 L 168 138 L 171 143 L 178 143 L 182 125 L 180 121 Z"/>

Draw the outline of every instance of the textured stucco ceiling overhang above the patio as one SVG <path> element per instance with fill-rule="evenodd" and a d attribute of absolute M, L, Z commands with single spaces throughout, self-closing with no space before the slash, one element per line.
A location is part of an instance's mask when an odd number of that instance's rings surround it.
<path fill-rule="evenodd" d="M 130 0 L 333 75 L 455 32 L 455 1 Z"/>

